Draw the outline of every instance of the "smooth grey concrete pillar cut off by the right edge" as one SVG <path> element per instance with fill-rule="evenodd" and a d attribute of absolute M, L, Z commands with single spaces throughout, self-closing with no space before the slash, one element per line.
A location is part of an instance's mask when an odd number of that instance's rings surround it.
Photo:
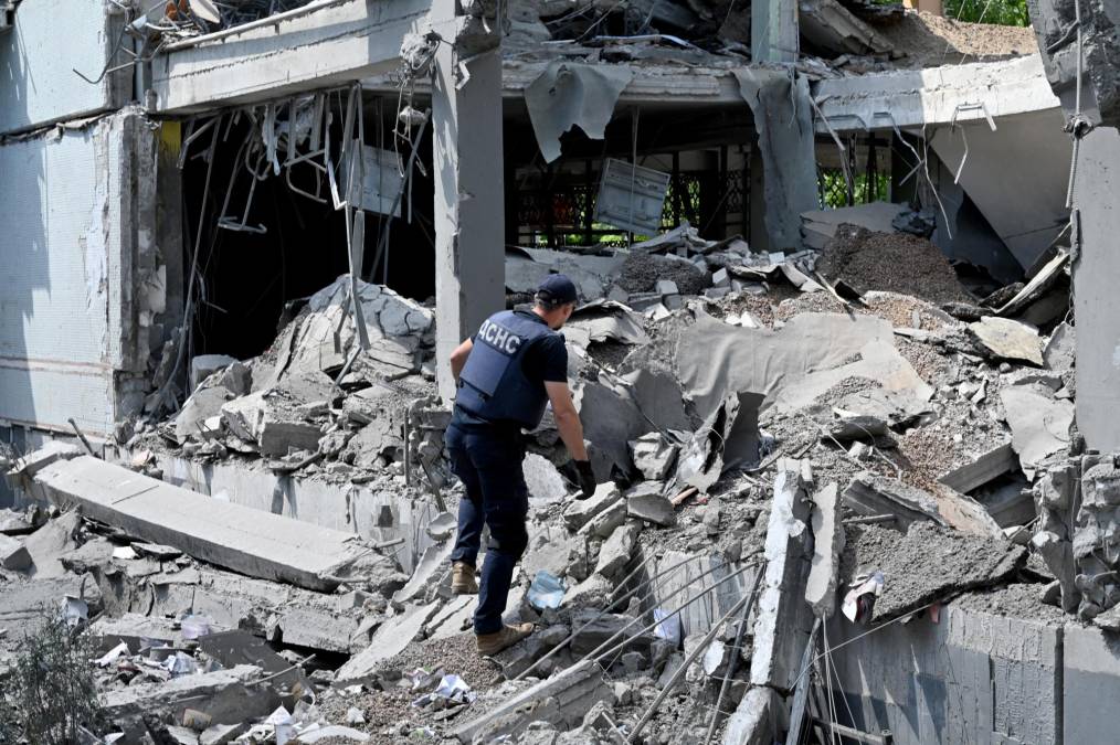
<path fill-rule="evenodd" d="M 1093 450 L 1120 449 L 1120 132 L 1093 130 L 1081 144 L 1074 207 L 1080 256 L 1073 263 L 1077 326 L 1077 428 Z"/>

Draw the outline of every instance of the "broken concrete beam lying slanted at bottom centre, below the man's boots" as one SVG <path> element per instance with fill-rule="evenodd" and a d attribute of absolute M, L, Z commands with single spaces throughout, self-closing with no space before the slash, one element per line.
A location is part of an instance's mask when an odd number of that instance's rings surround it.
<path fill-rule="evenodd" d="M 500 704 L 480 717 L 459 725 L 451 732 L 460 743 L 491 742 L 494 737 L 510 732 L 522 732 L 534 718 L 534 705 L 545 699 L 556 701 L 558 718 L 571 727 L 582 722 L 584 715 L 596 701 L 609 701 L 610 687 L 603 678 L 603 668 L 590 660 L 584 660 L 539 683 L 528 688 Z M 500 729 L 492 729 L 501 724 Z M 485 737 L 480 737 L 485 733 Z"/>

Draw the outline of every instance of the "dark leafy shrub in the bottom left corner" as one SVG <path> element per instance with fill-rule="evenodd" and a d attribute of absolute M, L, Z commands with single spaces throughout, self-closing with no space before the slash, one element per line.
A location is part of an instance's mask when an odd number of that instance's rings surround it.
<path fill-rule="evenodd" d="M 80 726 L 100 729 L 93 657 L 87 636 L 60 616 L 46 616 L 0 681 L 0 743 L 66 745 L 78 742 Z"/>

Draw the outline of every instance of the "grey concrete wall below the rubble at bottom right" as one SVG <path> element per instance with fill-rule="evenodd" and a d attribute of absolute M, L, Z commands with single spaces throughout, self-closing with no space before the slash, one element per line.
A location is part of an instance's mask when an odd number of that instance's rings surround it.
<path fill-rule="evenodd" d="M 867 631 L 829 623 L 832 647 L 851 642 L 832 654 L 844 724 L 898 745 L 1062 742 L 1061 626 L 949 605 L 940 623 L 923 614 L 856 640 Z"/>

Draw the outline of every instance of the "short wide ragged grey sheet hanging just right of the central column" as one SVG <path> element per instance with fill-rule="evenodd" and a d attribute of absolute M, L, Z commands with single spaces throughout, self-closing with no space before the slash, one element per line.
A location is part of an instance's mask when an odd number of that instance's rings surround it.
<path fill-rule="evenodd" d="M 572 126 L 601 140 L 618 96 L 633 77 L 628 67 L 550 63 L 525 88 L 525 106 L 544 161 L 560 157 L 560 135 Z"/>

